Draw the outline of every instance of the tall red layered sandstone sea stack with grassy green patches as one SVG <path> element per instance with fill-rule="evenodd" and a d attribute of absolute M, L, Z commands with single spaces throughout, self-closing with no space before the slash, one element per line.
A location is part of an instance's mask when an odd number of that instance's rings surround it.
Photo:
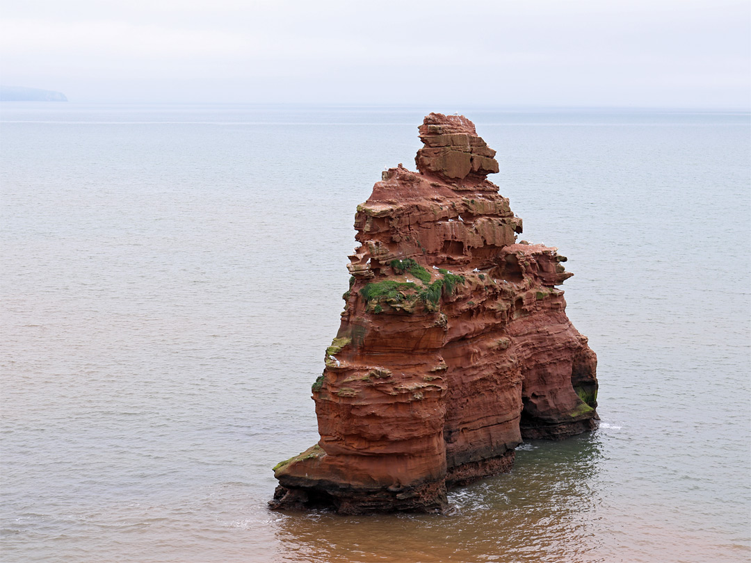
<path fill-rule="evenodd" d="M 469 119 L 431 113 L 419 131 L 418 172 L 382 173 L 357 206 L 342 323 L 312 385 L 321 439 L 276 465 L 273 508 L 440 511 L 447 487 L 510 471 L 523 438 L 595 427 L 597 358 L 556 288 L 566 257 L 516 241 Z"/>

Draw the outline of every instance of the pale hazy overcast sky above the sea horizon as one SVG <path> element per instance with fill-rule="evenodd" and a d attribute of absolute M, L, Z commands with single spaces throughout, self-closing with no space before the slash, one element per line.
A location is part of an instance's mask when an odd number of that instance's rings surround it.
<path fill-rule="evenodd" d="M 0 80 L 71 101 L 749 106 L 749 2 L 6 0 Z"/>

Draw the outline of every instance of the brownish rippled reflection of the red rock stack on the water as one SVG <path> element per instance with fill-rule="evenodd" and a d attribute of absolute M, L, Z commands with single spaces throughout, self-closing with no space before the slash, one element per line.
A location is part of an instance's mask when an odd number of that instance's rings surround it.
<path fill-rule="evenodd" d="M 601 458 L 596 432 L 532 441 L 510 474 L 453 489 L 444 516 L 286 513 L 276 534 L 288 561 L 593 561 Z"/>

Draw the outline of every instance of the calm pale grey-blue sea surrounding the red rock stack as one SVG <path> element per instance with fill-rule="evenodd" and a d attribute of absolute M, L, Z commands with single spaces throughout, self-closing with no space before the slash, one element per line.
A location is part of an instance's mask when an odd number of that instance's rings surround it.
<path fill-rule="evenodd" d="M 569 257 L 596 432 L 445 516 L 274 513 L 318 440 L 357 203 L 425 113 Z M 749 115 L 3 104 L 2 544 L 15 561 L 748 561 Z"/>

